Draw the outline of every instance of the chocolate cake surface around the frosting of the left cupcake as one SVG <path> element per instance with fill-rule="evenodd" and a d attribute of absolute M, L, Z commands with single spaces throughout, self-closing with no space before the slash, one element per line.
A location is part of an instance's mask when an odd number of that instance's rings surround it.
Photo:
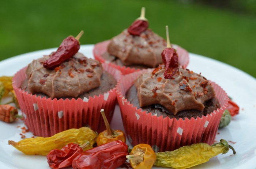
<path fill-rule="evenodd" d="M 28 81 L 27 79 L 24 80 L 20 88 L 29 92 L 29 90 L 27 89 L 27 81 Z M 108 92 L 110 89 L 113 89 L 115 85 L 116 85 L 116 79 L 110 73 L 104 71 L 101 76 L 101 84 L 99 85 L 99 87 L 91 89 L 88 92 L 84 92 L 78 97 L 76 97 L 75 99 L 78 99 L 78 98 L 83 99 L 84 97 L 89 98 L 90 96 L 91 97 L 93 97 L 94 95 L 98 96 L 99 94 L 103 95 L 103 93 Z M 49 98 L 49 96 L 45 95 L 44 93 L 33 93 L 33 94 L 36 94 L 41 97 Z M 71 100 L 73 97 L 61 97 L 61 98 L 62 99 L 68 98 Z M 60 98 L 57 98 L 57 99 L 60 99 Z"/>

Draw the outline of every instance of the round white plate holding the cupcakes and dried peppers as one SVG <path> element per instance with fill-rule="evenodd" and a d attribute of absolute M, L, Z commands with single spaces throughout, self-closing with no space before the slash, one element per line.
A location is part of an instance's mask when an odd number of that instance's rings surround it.
<path fill-rule="evenodd" d="M 81 45 L 80 52 L 87 57 L 93 57 L 93 45 Z M 33 59 L 49 54 L 53 49 L 26 53 L 5 59 L 0 62 L 0 76 L 13 76 L 19 69 L 29 64 Z M 240 114 L 235 116 L 230 125 L 219 130 L 216 141 L 221 138 L 230 143 L 237 151 L 236 155 L 230 150 L 227 154 L 218 155 L 210 161 L 194 168 L 227 169 L 227 168 L 256 168 L 256 79 L 241 70 L 222 62 L 190 53 L 188 69 L 217 82 L 229 96 L 240 106 Z M 7 124 L 0 122 L 0 168 L 2 169 L 45 169 L 49 168 L 46 157 L 40 155 L 25 155 L 8 145 L 8 140 L 20 141 L 21 129 L 25 126 L 22 120 Z M 113 129 L 123 129 L 120 110 L 116 106 L 111 124 Z M 25 134 L 31 137 L 30 132 Z"/>

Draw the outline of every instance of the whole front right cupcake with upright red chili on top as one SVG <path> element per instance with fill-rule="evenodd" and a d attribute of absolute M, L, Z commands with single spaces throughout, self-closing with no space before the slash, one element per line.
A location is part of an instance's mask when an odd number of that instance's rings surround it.
<path fill-rule="evenodd" d="M 132 145 L 146 143 L 156 152 L 211 145 L 227 94 L 201 74 L 180 68 L 176 50 L 167 46 L 163 65 L 127 74 L 117 85 L 126 135 Z"/>

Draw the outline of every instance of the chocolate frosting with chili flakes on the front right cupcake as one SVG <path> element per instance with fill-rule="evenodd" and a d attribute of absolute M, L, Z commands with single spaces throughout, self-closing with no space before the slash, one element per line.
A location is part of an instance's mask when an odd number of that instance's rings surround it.
<path fill-rule="evenodd" d="M 200 74 L 179 68 L 171 79 L 165 79 L 165 66 L 144 73 L 135 80 L 140 107 L 160 104 L 174 115 L 182 110 L 204 109 L 204 101 L 215 96 L 210 82 Z"/>

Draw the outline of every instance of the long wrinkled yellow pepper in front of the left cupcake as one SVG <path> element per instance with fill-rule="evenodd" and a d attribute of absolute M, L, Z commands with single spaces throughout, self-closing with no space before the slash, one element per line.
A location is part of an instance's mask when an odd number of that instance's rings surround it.
<path fill-rule="evenodd" d="M 47 155 L 53 149 L 61 149 L 68 143 L 83 145 L 89 141 L 90 144 L 85 148 L 88 150 L 93 147 L 97 134 L 89 127 L 71 128 L 59 132 L 52 137 L 26 138 L 19 142 L 8 141 L 9 145 L 27 155 Z"/>

